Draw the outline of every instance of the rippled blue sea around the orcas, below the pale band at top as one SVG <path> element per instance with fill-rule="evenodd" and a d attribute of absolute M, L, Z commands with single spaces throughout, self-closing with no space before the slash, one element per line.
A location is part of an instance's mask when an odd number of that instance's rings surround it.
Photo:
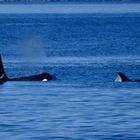
<path fill-rule="evenodd" d="M 1 140 L 139 140 L 140 13 L 0 14 L 9 77 L 0 85 Z"/>

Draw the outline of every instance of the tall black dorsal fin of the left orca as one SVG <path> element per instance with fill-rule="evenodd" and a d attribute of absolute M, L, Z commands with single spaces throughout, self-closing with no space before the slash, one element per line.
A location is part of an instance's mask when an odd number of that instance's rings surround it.
<path fill-rule="evenodd" d="M 8 80 L 8 77 L 4 71 L 1 55 L 0 55 L 0 80 L 2 80 L 2 81 Z"/>

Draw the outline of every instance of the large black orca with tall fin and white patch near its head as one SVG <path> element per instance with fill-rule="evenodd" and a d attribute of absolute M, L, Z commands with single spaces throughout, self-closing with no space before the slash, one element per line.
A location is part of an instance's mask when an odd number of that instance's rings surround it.
<path fill-rule="evenodd" d="M 31 75 L 31 76 L 17 77 L 17 78 L 8 78 L 8 76 L 4 71 L 4 67 L 0 55 L 0 84 L 6 81 L 48 81 L 54 78 L 55 77 L 53 75 L 50 75 L 49 73 L 41 73 L 38 75 Z"/>

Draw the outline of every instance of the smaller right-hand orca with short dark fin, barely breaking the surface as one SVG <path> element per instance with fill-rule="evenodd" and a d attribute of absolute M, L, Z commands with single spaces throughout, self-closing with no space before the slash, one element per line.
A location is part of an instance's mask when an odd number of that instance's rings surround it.
<path fill-rule="evenodd" d="M 118 72 L 116 82 L 140 82 L 140 80 L 130 80 L 124 73 Z"/>

